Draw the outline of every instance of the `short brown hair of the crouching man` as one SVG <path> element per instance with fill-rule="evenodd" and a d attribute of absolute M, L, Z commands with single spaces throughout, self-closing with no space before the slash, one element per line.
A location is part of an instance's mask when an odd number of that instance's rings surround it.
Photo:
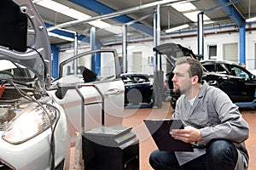
<path fill-rule="evenodd" d="M 203 75 L 203 67 L 201 62 L 197 59 L 191 57 L 183 57 L 178 59 L 175 65 L 189 64 L 189 77 L 198 77 L 198 82 L 200 83 Z"/>

